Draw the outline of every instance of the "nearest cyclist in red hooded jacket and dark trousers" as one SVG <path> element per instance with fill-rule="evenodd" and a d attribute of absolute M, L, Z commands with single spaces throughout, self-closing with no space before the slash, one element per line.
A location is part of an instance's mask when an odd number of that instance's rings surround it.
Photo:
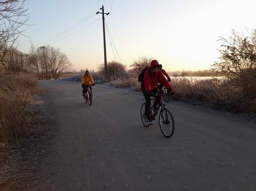
<path fill-rule="evenodd" d="M 147 69 L 144 73 L 144 79 L 142 83 L 142 93 L 146 99 L 146 105 L 145 105 L 145 114 L 147 116 L 146 123 L 148 125 L 153 124 L 150 118 L 150 104 L 151 104 L 150 96 L 155 96 L 156 92 L 159 91 L 158 83 L 164 84 L 167 90 L 171 94 L 173 94 L 174 91 L 172 91 L 171 85 L 167 82 L 162 71 L 160 71 L 159 69 L 158 61 L 152 60 L 150 64 L 150 69 Z M 153 105 L 154 109 L 156 109 L 159 103 L 160 103 L 160 96 L 157 96 Z"/>

